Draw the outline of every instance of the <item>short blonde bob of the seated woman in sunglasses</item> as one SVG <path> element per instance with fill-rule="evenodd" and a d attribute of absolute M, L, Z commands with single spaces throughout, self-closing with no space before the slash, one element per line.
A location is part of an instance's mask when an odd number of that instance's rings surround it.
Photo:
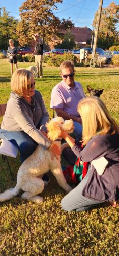
<path fill-rule="evenodd" d="M 17 69 L 11 78 L 11 90 L 20 96 L 24 95 L 24 89 L 27 89 L 31 83 L 32 72 L 27 69 Z"/>

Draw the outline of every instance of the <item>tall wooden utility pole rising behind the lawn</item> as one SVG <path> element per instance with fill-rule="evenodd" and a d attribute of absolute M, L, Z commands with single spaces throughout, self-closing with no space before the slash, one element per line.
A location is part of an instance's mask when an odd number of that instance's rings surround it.
<path fill-rule="evenodd" d="M 97 47 L 98 31 L 99 31 L 99 26 L 100 26 L 100 18 L 101 18 L 101 12 L 102 12 L 102 5 L 103 5 L 103 0 L 100 0 L 99 8 L 98 8 L 97 22 L 96 22 L 96 30 L 95 30 L 95 36 L 94 36 L 94 46 L 93 46 L 93 52 L 92 52 L 92 59 L 90 61 L 90 67 L 92 67 L 94 65 L 94 63 L 96 62 L 95 54 L 96 54 L 96 47 Z"/>

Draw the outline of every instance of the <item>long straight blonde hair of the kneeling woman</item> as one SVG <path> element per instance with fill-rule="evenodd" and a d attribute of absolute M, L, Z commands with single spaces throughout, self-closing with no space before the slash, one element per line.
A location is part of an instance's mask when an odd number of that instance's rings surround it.
<path fill-rule="evenodd" d="M 119 132 L 119 127 L 110 116 L 104 102 L 96 96 L 83 98 L 77 108 L 83 125 L 82 140 L 85 145 L 92 136 L 104 135 L 108 132 Z"/>

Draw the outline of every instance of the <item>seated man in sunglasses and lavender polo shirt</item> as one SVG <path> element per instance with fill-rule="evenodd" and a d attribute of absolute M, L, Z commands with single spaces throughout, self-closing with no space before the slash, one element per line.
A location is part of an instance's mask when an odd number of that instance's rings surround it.
<path fill-rule="evenodd" d="M 64 61 L 60 69 L 62 81 L 52 89 L 50 108 L 55 109 L 57 116 L 74 121 L 74 136 L 79 141 L 82 136 L 82 122 L 77 105 L 85 94 L 81 84 L 74 81 L 73 61 Z"/>

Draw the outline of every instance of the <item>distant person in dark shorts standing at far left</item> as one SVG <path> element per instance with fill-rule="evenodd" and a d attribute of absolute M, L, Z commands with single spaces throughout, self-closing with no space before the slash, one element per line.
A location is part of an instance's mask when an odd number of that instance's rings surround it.
<path fill-rule="evenodd" d="M 13 74 L 13 65 L 15 65 L 15 68 L 18 69 L 17 65 L 17 47 L 14 46 L 14 40 L 9 40 L 9 47 L 8 47 L 8 54 L 9 54 L 9 62 L 10 62 L 10 69 L 11 74 Z"/>

